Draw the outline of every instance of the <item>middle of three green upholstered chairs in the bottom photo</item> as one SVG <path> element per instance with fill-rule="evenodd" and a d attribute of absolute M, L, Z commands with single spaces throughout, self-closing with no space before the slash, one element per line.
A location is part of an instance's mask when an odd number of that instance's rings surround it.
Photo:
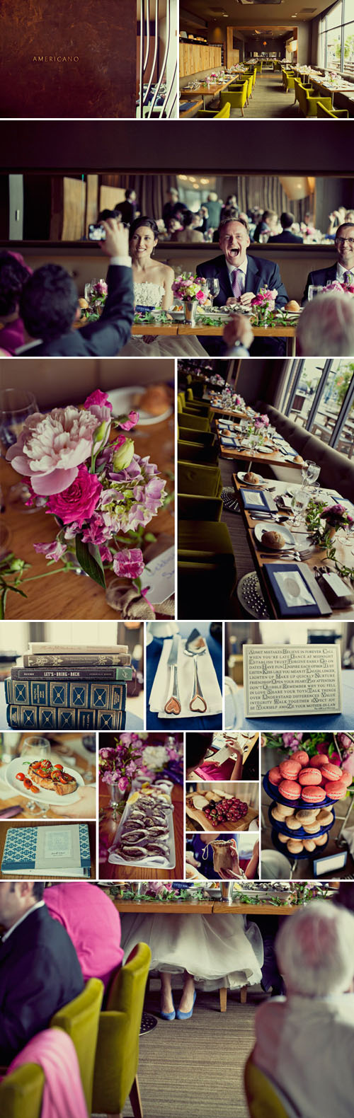
<path fill-rule="evenodd" d="M 80 1067 L 87 1110 L 92 1111 L 93 1073 L 100 1010 L 104 993 L 100 978 L 90 978 L 78 997 L 54 1014 L 50 1029 L 63 1029 L 72 1038 Z M 27 1118 L 25 1111 L 25 1118 Z"/>

